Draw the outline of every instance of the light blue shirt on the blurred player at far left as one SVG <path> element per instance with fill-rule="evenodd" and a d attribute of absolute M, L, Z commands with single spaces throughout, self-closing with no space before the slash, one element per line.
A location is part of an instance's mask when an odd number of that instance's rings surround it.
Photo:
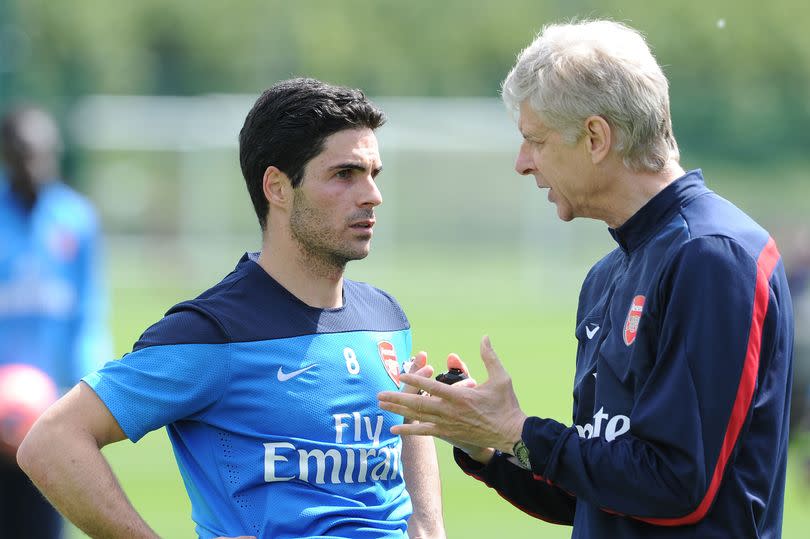
<path fill-rule="evenodd" d="M 67 390 L 110 357 L 98 221 L 61 182 L 25 208 L 0 172 L 0 365 L 24 363 Z"/>

